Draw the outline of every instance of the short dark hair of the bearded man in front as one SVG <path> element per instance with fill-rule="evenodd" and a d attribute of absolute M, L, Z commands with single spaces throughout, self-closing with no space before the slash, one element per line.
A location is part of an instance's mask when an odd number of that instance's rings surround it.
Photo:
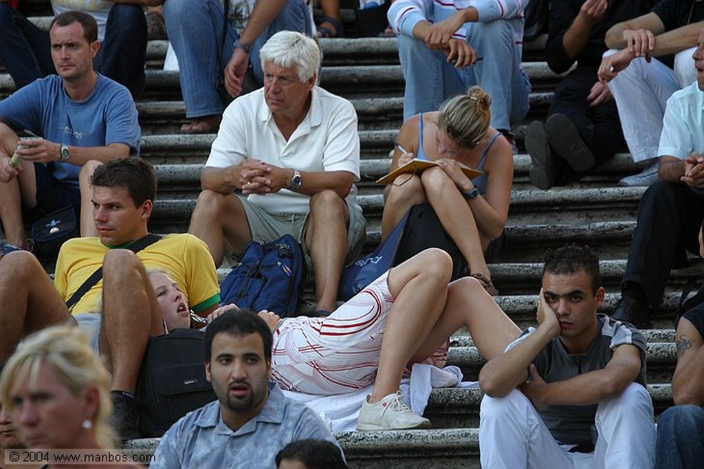
<path fill-rule="evenodd" d="M 203 338 L 206 347 L 206 363 L 210 363 L 213 353 L 215 334 L 230 334 L 233 337 L 243 337 L 249 334 L 259 334 L 264 343 L 264 358 L 271 363 L 271 347 L 274 342 L 269 325 L 257 313 L 249 309 L 230 310 L 219 315 L 208 324 L 206 336 Z"/>

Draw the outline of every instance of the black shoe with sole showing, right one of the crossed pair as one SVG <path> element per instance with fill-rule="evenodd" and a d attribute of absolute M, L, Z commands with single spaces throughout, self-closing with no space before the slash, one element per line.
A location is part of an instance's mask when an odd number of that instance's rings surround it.
<path fill-rule="evenodd" d="M 596 159 L 586 146 L 579 129 L 564 114 L 553 114 L 545 122 L 548 142 L 560 158 L 567 161 L 576 173 L 586 173 L 596 164 Z"/>

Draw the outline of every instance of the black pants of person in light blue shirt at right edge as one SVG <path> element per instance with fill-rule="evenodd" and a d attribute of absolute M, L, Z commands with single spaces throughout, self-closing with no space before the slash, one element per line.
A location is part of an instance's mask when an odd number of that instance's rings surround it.
<path fill-rule="evenodd" d="M 656 307 L 670 269 L 684 260 L 687 249 L 699 252 L 698 233 L 704 218 L 704 196 L 689 186 L 657 182 L 643 194 L 623 277 L 639 284 L 648 304 Z"/>

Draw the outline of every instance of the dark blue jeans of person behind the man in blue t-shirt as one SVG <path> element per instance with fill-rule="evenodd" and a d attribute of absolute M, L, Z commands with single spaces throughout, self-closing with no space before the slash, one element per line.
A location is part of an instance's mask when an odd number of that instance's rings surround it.
<path fill-rule="evenodd" d="M 105 37 L 93 61 L 96 71 L 125 85 L 132 97 L 144 88 L 146 35 L 142 7 L 115 4 L 108 13 Z M 0 61 L 18 88 L 56 73 L 49 33 L 4 3 L 0 4 Z"/>

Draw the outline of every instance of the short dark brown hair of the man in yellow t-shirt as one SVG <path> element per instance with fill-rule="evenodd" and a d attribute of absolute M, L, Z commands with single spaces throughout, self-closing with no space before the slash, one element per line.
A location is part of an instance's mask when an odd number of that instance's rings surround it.
<path fill-rule="evenodd" d="M 120 158 L 99 165 L 90 178 L 93 186 L 125 187 L 135 207 L 156 198 L 154 168 L 138 156 Z"/>

